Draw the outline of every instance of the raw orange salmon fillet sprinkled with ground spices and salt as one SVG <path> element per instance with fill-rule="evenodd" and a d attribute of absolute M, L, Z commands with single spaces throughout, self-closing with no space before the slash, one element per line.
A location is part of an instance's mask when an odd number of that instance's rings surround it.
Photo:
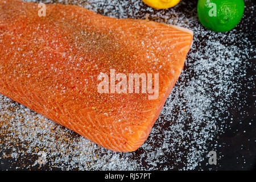
<path fill-rule="evenodd" d="M 46 5 L 41 17 L 39 9 L 0 0 L 0 93 L 105 148 L 137 150 L 183 69 L 193 32 L 80 6 Z M 158 97 L 97 92 L 98 75 L 110 69 L 159 73 Z"/>

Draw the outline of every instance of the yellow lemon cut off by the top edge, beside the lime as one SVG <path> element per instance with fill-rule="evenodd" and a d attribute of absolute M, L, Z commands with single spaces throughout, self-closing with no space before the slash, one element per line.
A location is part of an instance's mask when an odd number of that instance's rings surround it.
<path fill-rule="evenodd" d="M 142 0 L 146 5 L 155 9 L 167 9 L 174 7 L 180 0 Z"/>

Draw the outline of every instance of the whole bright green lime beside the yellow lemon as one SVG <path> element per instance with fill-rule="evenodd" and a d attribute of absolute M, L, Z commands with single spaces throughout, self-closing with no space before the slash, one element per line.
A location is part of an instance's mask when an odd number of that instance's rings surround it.
<path fill-rule="evenodd" d="M 232 30 L 245 10 L 243 0 L 199 0 L 197 14 L 203 26 L 216 32 Z"/>

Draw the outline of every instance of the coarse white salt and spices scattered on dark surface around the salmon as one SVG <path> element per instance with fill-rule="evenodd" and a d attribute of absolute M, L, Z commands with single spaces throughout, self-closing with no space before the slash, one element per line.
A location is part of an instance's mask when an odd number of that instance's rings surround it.
<path fill-rule="evenodd" d="M 240 31 L 253 17 L 247 16 L 228 33 L 215 33 L 199 23 L 195 2 L 181 1 L 173 9 L 157 11 L 140 0 L 42 2 L 71 3 L 116 18 L 148 18 L 187 27 L 194 32 L 193 46 L 150 136 L 137 151 L 106 150 L 0 95 L 0 165 L 10 169 L 200 169 L 208 152 L 218 147 L 218 136 L 233 122 L 229 108 L 238 95 L 247 94 L 241 89 L 255 86 L 253 77 L 246 85 L 238 81 L 253 67 L 247 60 L 253 59 L 255 46 Z M 255 7 L 246 11 L 253 12 Z M 45 152 L 46 164 L 38 163 L 39 151 Z"/>

